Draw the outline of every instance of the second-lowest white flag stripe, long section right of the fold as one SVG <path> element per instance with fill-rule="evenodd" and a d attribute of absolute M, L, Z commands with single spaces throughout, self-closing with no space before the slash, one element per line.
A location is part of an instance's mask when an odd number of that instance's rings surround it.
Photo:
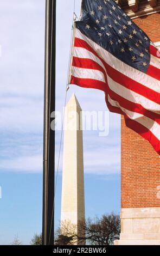
<path fill-rule="evenodd" d="M 108 86 L 114 93 L 124 97 L 124 99 L 129 100 L 133 103 L 139 103 L 145 109 L 149 109 L 150 111 L 153 111 L 153 112 L 159 111 L 158 114 L 160 113 L 160 105 L 157 104 L 156 102 L 151 101 L 146 97 L 138 93 L 135 93 L 130 89 L 127 89 L 124 86 L 121 86 L 121 84 L 113 81 L 112 78 L 110 78 L 108 75 L 107 75 L 107 81 L 108 81 Z"/>

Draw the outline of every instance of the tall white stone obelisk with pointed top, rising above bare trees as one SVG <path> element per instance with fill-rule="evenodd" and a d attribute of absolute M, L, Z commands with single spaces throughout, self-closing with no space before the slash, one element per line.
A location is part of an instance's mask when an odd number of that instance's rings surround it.
<path fill-rule="evenodd" d="M 65 137 L 62 170 L 62 223 L 78 227 L 85 221 L 84 157 L 81 107 L 73 94 L 65 109 Z M 77 233 L 79 230 L 77 229 Z"/>

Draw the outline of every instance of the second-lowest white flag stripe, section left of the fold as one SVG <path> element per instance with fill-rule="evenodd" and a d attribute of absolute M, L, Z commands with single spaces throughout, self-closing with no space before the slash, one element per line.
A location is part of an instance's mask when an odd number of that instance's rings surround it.
<path fill-rule="evenodd" d="M 78 58 L 83 58 L 83 59 L 86 59 L 86 58 L 92 59 L 92 60 L 94 60 L 94 62 L 97 62 L 106 72 L 105 66 L 101 62 L 101 60 L 99 58 L 97 58 L 97 56 L 95 56 L 92 52 L 89 52 L 85 48 L 74 47 L 73 56 L 78 57 Z"/>

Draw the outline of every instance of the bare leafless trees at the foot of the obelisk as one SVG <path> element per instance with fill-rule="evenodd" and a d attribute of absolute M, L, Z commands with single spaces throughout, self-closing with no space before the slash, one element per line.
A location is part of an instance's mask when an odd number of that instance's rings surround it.
<path fill-rule="evenodd" d="M 78 231 L 77 231 L 78 230 Z M 57 231 L 57 245 L 72 245 L 75 243 L 87 245 L 113 245 L 114 240 L 119 239 L 120 218 L 119 215 L 103 215 L 101 218 L 86 222 L 79 222 L 78 227 L 69 222 L 61 224 L 61 229 Z"/>

